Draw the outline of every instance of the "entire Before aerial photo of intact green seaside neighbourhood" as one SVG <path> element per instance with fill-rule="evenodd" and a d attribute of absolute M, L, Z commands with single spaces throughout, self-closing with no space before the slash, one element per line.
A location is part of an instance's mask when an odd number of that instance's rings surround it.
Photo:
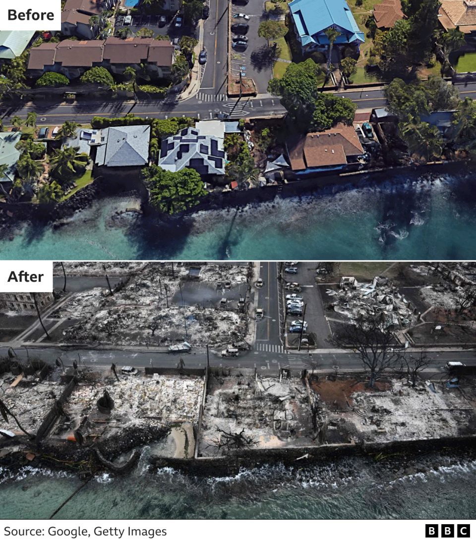
<path fill-rule="evenodd" d="M 61 7 L 0 31 L 3 259 L 474 256 L 472 0 Z"/>

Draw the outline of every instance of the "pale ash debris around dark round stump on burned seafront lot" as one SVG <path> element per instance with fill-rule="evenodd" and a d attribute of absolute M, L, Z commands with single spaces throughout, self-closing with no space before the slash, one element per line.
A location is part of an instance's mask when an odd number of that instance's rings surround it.
<path fill-rule="evenodd" d="M 120 377 L 119 382 L 78 386 L 63 408 L 70 416 L 78 417 L 96 412 L 97 401 L 107 390 L 114 402 L 110 415 L 114 425 L 139 427 L 150 425 L 151 421 L 197 423 L 203 387 L 203 377 Z"/>

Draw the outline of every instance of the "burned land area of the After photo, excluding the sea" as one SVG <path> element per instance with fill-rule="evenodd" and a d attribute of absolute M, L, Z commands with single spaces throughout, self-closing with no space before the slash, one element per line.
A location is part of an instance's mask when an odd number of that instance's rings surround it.
<path fill-rule="evenodd" d="M 0 295 L 2 475 L 126 472 L 144 446 L 150 469 L 227 475 L 476 435 L 476 263 L 53 265 L 51 294 Z"/>

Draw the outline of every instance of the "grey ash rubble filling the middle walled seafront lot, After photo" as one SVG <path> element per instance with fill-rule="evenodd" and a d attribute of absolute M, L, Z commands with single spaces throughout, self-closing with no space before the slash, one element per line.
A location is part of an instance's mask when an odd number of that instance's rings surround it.
<path fill-rule="evenodd" d="M 298 378 L 210 376 L 203 413 L 201 453 L 226 454 L 214 441 L 221 431 L 240 433 L 253 440 L 253 447 L 270 448 L 312 444 L 311 411 L 306 388 Z"/>

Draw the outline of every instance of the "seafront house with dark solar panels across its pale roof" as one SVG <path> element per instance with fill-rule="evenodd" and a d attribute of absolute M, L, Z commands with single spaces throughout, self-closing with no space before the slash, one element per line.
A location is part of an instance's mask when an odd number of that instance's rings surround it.
<path fill-rule="evenodd" d="M 191 167 L 200 175 L 224 175 L 223 139 L 201 135 L 196 128 L 185 128 L 162 141 L 158 165 L 168 171 Z"/>

